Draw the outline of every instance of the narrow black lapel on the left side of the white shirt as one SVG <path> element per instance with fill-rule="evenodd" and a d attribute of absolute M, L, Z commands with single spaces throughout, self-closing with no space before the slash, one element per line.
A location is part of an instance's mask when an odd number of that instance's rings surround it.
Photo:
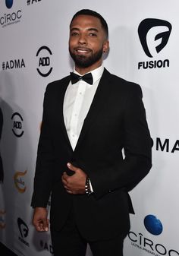
<path fill-rule="evenodd" d="M 61 127 L 61 131 L 64 134 L 64 137 L 66 138 L 69 147 L 72 150 L 71 143 L 68 138 L 68 133 L 64 125 L 64 112 L 63 112 L 63 106 L 64 106 L 64 95 L 67 90 L 68 84 L 70 83 L 70 77 L 65 77 L 63 84 L 59 84 L 59 93 L 58 93 L 58 103 L 59 103 L 59 125 Z"/>

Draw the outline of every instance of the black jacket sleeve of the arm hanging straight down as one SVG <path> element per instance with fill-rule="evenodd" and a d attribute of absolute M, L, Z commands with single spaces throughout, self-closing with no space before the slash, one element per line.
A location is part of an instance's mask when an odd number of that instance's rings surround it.
<path fill-rule="evenodd" d="M 52 169 L 54 153 L 52 131 L 48 118 L 49 86 L 43 102 L 42 127 L 36 158 L 36 172 L 33 185 L 32 207 L 46 207 L 52 189 Z"/>

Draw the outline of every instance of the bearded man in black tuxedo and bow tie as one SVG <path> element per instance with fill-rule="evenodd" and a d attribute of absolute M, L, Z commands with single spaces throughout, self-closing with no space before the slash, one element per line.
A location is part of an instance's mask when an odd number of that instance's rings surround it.
<path fill-rule="evenodd" d="M 55 256 L 121 256 L 133 213 L 127 193 L 151 168 L 151 139 L 137 84 L 110 74 L 108 25 L 90 10 L 70 24 L 74 73 L 46 88 L 32 206 Z M 122 153 L 124 150 L 124 155 Z"/>

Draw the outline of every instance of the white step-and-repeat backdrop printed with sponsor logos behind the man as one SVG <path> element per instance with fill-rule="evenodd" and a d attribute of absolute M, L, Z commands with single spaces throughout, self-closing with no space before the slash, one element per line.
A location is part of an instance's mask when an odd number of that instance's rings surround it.
<path fill-rule="evenodd" d="M 71 17 L 82 8 L 108 22 L 111 73 L 142 87 L 153 140 L 152 169 L 133 191 L 135 215 L 124 256 L 179 255 L 179 2 L 172 0 L 2 0 L 0 106 L 3 113 L 0 242 L 17 255 L 53 254 L 30 207 L 46 85 L 69 74 Z M 56 113 L 58 115 L 58 113 Z M 49 206 L 50 207 L 50 201 Z M 87 256 L 92 255 L 88 249 Z"/>

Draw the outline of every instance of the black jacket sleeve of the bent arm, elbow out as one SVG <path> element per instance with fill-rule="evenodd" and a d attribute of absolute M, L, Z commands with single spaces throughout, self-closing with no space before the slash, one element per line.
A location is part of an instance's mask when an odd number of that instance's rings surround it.
<path fill-rule="evenodd" d="M 90 180 L 98 199 L 117 189 L 129 191 L 149 172 L 152 166 L 152 140 L 146 122 L 142 90 L 130 87 L 124 108 L 124 159 L 118 157 L 108 168 L 90 173 Z"/>

